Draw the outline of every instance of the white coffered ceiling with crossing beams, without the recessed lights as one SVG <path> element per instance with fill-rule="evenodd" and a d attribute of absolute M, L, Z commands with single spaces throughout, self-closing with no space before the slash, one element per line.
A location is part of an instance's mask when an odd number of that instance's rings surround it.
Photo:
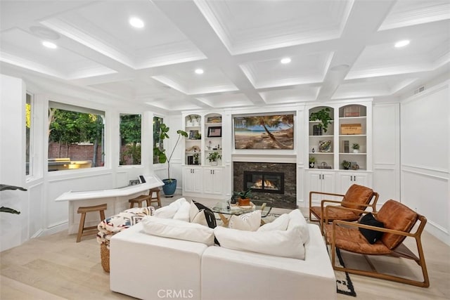
<path fill-rule="evenodd" d="M 449 0 L 1 0 L 0 11 L 1 72 L 149 110 L 376 101 L 449 74 Z"/>

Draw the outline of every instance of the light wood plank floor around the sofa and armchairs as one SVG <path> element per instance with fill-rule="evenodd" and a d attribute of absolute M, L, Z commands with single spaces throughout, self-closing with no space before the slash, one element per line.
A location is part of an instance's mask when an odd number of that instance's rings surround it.
<path fill-rule="evenodd" d="M 163 200 L 163 205 L 170 201 Z M 110 291 L 95 236 L 83 237 L 79 243 L 75 240 L 76 235 L 60 232 L 1 252 L 0 299 L 132 299 Z M 423 236 L 423 245 L 429 288 L 351 274 L 356 298 L 338 294 L 338 299 L 450 299 L 450 247 L 428 233 Z M 392 266 L 410 268 L 401 262 Z"/>

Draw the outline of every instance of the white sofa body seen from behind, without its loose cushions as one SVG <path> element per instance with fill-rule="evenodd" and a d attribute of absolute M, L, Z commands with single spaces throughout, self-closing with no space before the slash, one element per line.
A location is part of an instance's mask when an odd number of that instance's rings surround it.
<path fill-rule="evenodd" d="M 307 228 L 303 260 L 148 235 L 138 223 L 110 240 L 110 289 L 139 299 L 336 299 L 319 226 Z"/>

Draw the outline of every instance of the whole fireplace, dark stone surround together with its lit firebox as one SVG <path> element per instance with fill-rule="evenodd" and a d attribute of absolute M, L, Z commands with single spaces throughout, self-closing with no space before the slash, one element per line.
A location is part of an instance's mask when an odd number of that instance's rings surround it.
<path fill-rule="evenodd" d="M 297 165 L 233 162 L 233 191 L 252 188 L 252 200 L 270 200 L 274 207 L 297 208 Z"/>

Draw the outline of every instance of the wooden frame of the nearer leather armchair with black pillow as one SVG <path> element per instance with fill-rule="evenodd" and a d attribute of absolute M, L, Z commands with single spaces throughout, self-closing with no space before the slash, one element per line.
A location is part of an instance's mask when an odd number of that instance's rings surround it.
<path fill-rule="evenodd" d="M 349 209 L 347 207 L 340 207 L 340 209 L 361 211 L 359 209 Z M 368 214 L 368 211 L 361 211 L 361 212 L 362 212 L 362 214 Z M 372 214 L 376 216 L 377 213 L 372 212 Z M 368 226 L 368 225 L 364 225 L 361 223 L 355 223 L 355 222 L 340 221 L 340 220 L 333 221 L 331 241 L 329 241 L 326 238 L 326 243 L 331 245 L 331 264 L 333 265 L 333 269 L 348 272 L 348 273 L 353 273 L 353 274 L 357 274 L 357 275 L 364 275 L 364 276 L 369 276 L 369 277 L 373 277 L 373 278 L 380 278 L 380 279 L 385 279 L 385 280 L 392 280 L 395 282 L 406 283 L 408 285 L 415 285 L 417 287 L 429 287 L 430 280 L 428 278 L 428 271 L 427 271 L 427 266 L 425 263 L 425 256 L 423 254 L 422 242 L 420 240 L 420 236 L 422 235 L 423 228 L 425 228 L 427 219 L 425 218 L 425 216 L 418 214 L 418 219 L 416 220 L 416 223 L 417 223 L 417 221 L 420 221 L 420 224 L 415 233 L 404 232 L 404 231 L 399 231 L 399 230 L 392 230 L 392 229 L 388 229 L 388 228 L 379 228 L 379 227 L 375 227 L 375 226 Z M 350 226 L 350 227 L 355 227 L 355 228 L 366 228 L 366 229 L 371 229 L 371 230 L 377 230 L 377 231 L 380 231 L 383 233 L 393 233 L 395 235 L 403 235 L 404 237 L 413 237 L 416 240 L 416 247 L 418 250 L 419 257 L 417 257 L 416 254 L 413 254 L 413 252 L 411 252 L 411 250 L 408 249 L 408 247 L 406 247 L 403 244 L 403 242 L 401 242 L 399 244 L 399 246 L 392 249 L 390 254 L 380 254 L 380 255 L 394 256 L 394 257 L 398 257 L 398 258 L 412 259 L 413 261 L 416 261 L 418 266 L 420 266 L 420 268 L 422 269 L 423 281 L 411 280 L 411 279 L 402 278 L 399 276 L 388 275 L 385 273 L 378 273 L 378 271 L 375 269 L 375 266 L 373 266 L 373 263 L 369 260 L 367 254 L 359 253 L 359 252 L 352 252 L 352 253 L 358 253 L 358 254 L 363 255 L 364 258 L 366 259 L 366 261 L 368 262 L 369 266 L 371 267 L 371 271 L 335 266 L 335 253 L 336 253 L 336 236 L 335 236 L 336 229 L 335 228 L 336 228 L 336 226 Z M 346 250 L 346 249 L 342 249 L 342 250 Z M 374 255 L 374 254 L 370 254 L 370 255 Z"/>

